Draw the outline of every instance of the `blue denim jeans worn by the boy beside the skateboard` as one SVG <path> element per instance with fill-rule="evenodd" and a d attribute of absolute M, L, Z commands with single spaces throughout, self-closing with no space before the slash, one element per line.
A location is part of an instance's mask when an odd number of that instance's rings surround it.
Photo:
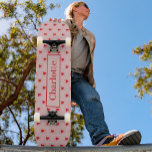
<path fill-rule="evenodd" d="M 81 109 L 93 145 L 110 135 L 100 96 L 83 75 L 71 72 L 71 98 Z"/>

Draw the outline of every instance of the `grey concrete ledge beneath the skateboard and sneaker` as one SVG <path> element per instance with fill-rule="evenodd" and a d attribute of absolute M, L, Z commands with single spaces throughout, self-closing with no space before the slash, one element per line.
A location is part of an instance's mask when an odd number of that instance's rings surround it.
<path fill-rule="evenodd" d="M 114 147 L 36 147 L 0 145 L 0 152 L 152 152 L 152 144 Z"/>

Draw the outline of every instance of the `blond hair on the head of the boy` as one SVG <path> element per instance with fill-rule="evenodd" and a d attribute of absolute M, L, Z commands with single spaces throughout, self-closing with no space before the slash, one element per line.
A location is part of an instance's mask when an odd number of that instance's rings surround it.
<path fill-rule="evenodd" d="M 78 1 L 70 4 L 66 9 L 65 9 L 65 16 L 66 19 L 73 19 L 73 7 L 79 7 L 80 5 L 85 4 L 83 1 Z"/>

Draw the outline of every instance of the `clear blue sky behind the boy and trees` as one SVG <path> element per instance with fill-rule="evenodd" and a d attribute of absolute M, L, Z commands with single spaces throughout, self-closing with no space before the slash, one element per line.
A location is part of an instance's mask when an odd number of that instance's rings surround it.
<path fill-rule="evenodd" d="M 142 133 L 141 143 L 152 143 L 152 99 L 135 98 L 135 67 L 144 66 L 132 49 L 152 40 L 151 0 L 84 0 L 91 9 L 85 27 L 96 37 L 94 76 L 111 134 L 132 129 Z M 64 10 L 73 0 L 52 0 L 61 8 L 49 11 L 44 21 L 65 18 Z M 6 23 L 0 23 L 4 33 Z M 80 146 L 91 146 L 88 132 Z"/>

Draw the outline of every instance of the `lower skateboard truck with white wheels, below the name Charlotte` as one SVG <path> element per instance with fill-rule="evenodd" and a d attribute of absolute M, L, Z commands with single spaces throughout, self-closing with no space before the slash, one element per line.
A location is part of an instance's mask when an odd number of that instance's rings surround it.
<path fill-rule="evenodd" d="M 34 122 L 39 123 L 40 120 L 48 120 L 48 123 L 50 125 L 56 125 L 57 120 L 64 120 L 65 123 L 70 122 L 70 114 L 65 113 L 64 116 L 57 115 L 57 111 L 48 111 L 48 115 L 46 116 L 40 116 L 40 113 L 34 114 Z"/>

